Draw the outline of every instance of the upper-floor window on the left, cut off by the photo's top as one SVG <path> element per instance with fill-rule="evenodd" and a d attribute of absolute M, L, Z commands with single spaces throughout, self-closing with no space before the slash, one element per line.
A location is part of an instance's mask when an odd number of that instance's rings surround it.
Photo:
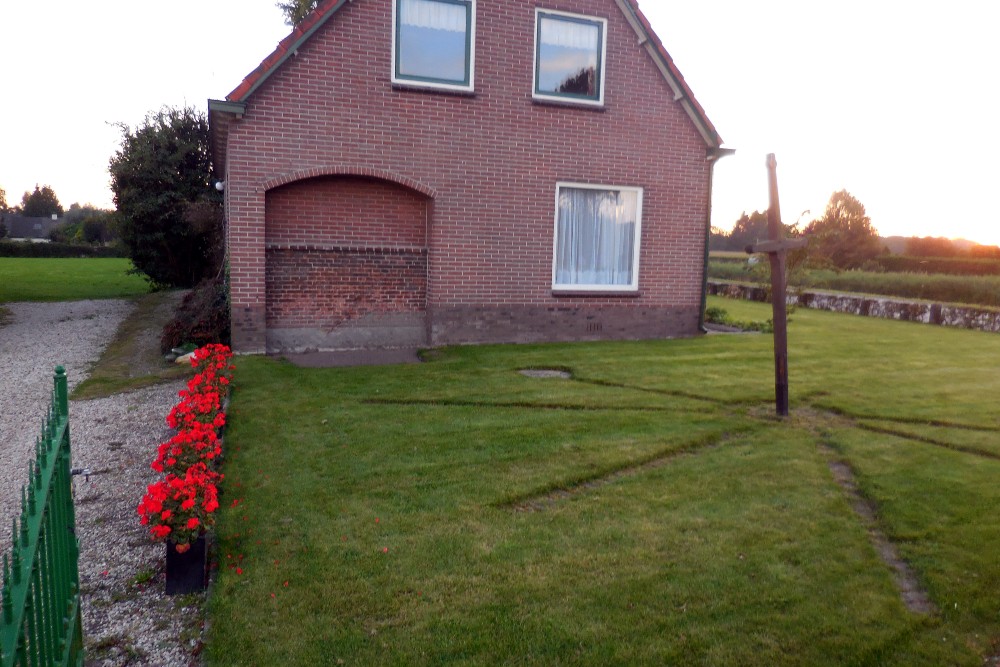
<path fill-rule="evenodd" d="M 393 0 L 392 81 L 473 90 L 475 0 Z"/>

